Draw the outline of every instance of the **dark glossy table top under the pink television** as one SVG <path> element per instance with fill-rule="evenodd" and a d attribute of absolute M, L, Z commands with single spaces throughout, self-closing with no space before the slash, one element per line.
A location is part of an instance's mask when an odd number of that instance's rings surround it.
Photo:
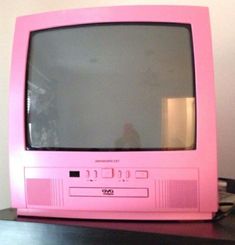
<path fill-rule="evenodd" d="M 235 214 L 216 223 L 17 217 L 0 211 L 0 244 L 235 244 Z"/>

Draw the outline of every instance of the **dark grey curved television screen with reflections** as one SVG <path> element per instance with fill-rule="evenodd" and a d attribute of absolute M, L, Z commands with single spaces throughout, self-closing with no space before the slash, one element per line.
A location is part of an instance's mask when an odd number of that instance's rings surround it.
<path fill-rule="evenodd" d="M 32 32 L 26 80 L 28 149 L 195 148 L 189 26 L 119 23 Z"/>

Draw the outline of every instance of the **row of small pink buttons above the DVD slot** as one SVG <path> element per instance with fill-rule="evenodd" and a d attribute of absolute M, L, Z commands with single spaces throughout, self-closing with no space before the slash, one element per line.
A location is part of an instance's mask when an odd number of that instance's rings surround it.
<path fill-rule="evenodd" d="M 86 170 L 86 178 L 96 179 L 98 177 L 97 170 Z M 101 169 L 101 177 L 104 179 L 111 179 L 114 177 L 114 169 L 112 168 L 103 168 Z M 130 178 L 131 174 L 129 170 L 118 170 L 117 171 L 118 178 Z M 136 170 L 135 171 L 135 178 L 136 179 L 147 179 L 148 178 L 148 171 L 146 170 Z"/>

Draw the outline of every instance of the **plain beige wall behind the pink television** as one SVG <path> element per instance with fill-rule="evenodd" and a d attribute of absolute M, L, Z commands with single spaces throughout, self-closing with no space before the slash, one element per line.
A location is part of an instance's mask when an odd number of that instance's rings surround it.
<path fill-rule="evenodd" d="M 15 17 L 50 10 L 126 4 L 208 6 L 211 15 L 218 118 L 219 175 L 235 178 L 234 0 L 1 0 L 0 1 L 0 209 L 10 206 L 8 171 L 8 81 Z"/>

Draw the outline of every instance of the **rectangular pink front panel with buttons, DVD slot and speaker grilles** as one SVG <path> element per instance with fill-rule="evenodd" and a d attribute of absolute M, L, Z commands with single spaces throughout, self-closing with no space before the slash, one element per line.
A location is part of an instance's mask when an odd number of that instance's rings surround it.
<path fill-rule="evenodd" d="M 27 207 L 47 209 L 191 211 L 199 208 L 198 185 L 197 169 L 25 169 Z"/>

